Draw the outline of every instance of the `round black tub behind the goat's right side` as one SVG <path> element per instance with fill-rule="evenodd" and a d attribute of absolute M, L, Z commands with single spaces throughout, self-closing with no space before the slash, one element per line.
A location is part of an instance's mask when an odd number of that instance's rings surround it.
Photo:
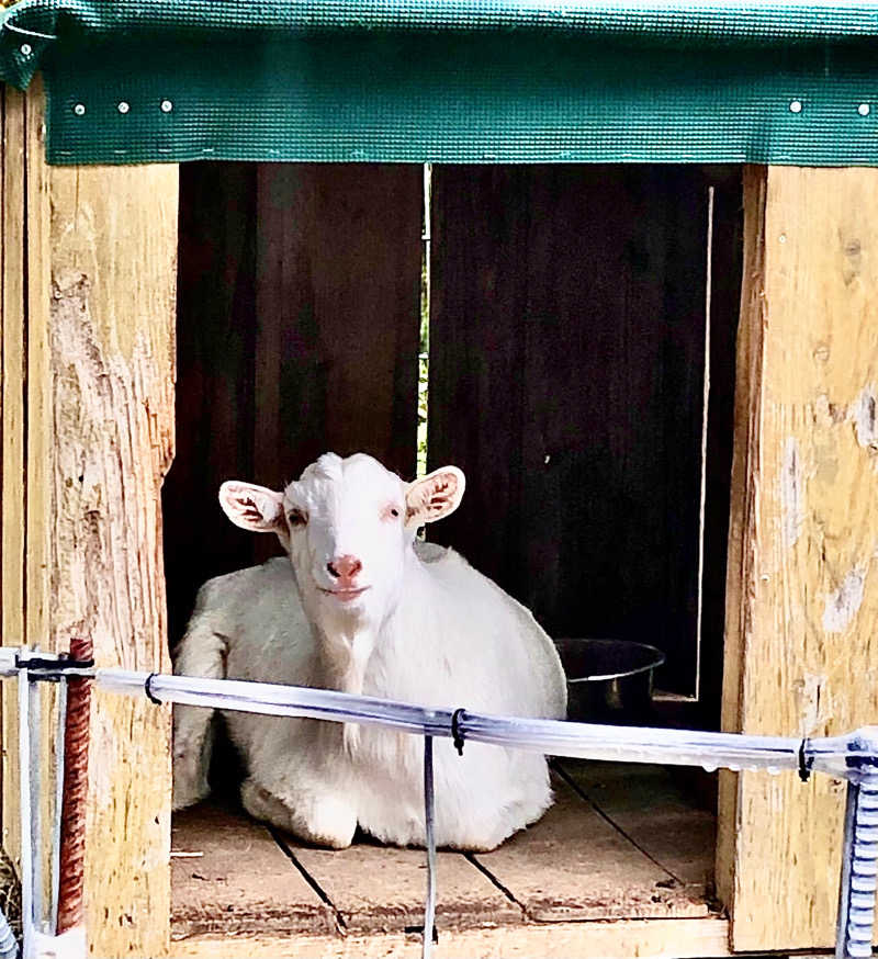
<path fill-rule="evenodd" d="M 567 719 L 649 724 L 652 674 L 665 661 L 655 646 L 624 640 L 555 640 L 567 676 Z"/>

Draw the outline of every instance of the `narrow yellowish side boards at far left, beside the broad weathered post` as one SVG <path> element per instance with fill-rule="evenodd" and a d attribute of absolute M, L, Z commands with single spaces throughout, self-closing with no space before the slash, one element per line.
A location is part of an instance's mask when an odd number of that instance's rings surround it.
<path fill-rule="evenodd" d="M 49 523 L 52 377 L 49 375 L 49 193 L 43 161 L 42 81 L 27 94 L 5 91 L 3 138 L 3 641 L 52 648 Z M 3 684 L 4 845 L 18 864 L 21 848 L 18 691 Z M 44 822 L 54 805 L 54 690 L 40 690 L 44 717 L 40 775 Z M 42 875 L 48 883 L 49 850 Z M 46 884 L 48 892 L 48 884 Z"/>

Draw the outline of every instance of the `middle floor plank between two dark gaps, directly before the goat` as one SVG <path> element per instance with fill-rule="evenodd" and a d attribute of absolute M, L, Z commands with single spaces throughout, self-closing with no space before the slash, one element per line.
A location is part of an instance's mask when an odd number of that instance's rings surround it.
<path fill-rule="evenodd" d="M 425 854 L 358 843 L 348 849 L 317 849 L 284 839 L 341 914 L 350 934 L 403 930 L 424 924 Z M 443 929 L 485 923 L 520 923 L 510 902 L 462 854 L 437 854 L 436 922 Z"/>

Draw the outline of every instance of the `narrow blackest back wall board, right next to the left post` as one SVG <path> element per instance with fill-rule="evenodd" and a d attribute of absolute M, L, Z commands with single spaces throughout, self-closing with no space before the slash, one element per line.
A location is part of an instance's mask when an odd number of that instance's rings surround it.
<path fill-rule="evenodd" d="M 162 488 L 175 641 L 205 579 L 256 561 L 259 538 L 226 520 L 216 494 L 254 475 L 257 228 L 252 163 L 181 167 L 177 451 Z"/>

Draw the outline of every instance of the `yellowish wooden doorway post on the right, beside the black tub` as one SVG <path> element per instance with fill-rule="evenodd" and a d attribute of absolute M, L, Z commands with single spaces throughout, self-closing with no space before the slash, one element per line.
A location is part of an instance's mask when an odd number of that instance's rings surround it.
<path fill-rule="evenodd" d="M 750 168 L 723 727 L 878 720 L 878 170 Z M 727 774 L 735 950 L 834 939 L 844 786 Z"/>

